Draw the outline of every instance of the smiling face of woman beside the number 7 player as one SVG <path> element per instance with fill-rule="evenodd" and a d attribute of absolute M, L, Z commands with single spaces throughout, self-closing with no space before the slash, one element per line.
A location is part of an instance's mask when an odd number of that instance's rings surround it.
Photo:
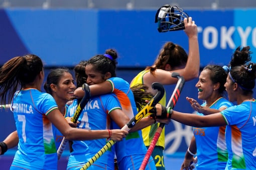
<path fill-rule="evenodd" d="M 76 88 L 74 79 L 69 72 L 64 72 L 60 77 L 58 84 L 51 84 L 53 97 L 55 100 L 63 100 L 65 102 L 74 98 L 74 90 Z"/>

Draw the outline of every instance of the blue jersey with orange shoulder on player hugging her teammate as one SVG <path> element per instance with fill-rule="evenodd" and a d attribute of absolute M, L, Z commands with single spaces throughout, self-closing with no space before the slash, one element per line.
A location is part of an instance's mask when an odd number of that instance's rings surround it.
<path fill-rule="evenodd" d="M 112 92 L 118 98 L 123 112 L 130 117 L 134 117 L 138 111 L 135 103 L 135 98 L 132 90 L 130 89 L 130 84 L 122 78 L 111 77 L 107 79 L 112 86 Z M 112 122 L 113 128 L 120 128 L 115 122 Z M 144 144 L 142 131 L 138 130 L 135 132 L 130 132 L 126 135 L 126 138 L 122 141 L 118 141 L 114 145 L 115 154 L 117 157 L 118 166 L 120 169 L 139 169 L 141 162 L 144 159 L 144 155 L 147 153 L 147 147 Z M 133 159 L 138 160 L 139 163 L 130 161 L 125 161 L 125 157 L 133 156 Z M 146 169 L 149 167 L 147 166 Z M 151 169 L 155 169 L 155 163 L 152 161 Z"/>

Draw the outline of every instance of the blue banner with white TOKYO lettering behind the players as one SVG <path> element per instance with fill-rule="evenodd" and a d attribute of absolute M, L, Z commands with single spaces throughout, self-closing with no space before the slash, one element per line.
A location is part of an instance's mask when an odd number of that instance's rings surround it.
<path fill-rule="evenodd" d="M 184 31 L 157 31 L 155 12 L 1 9 L 0 64 L 16 55 L 36 53 L 46 66 L 73 66 L 106 48 L 115 48 L 120 55 L 119 67 L 145 67 L 152 64 L 166 41 L 178 43 L 188 51 Z M 198 25 L 201 66 L 227 64 L 238 45 L 250 45 L 255 53 L 256 23 L 250 17 L 256 14 L 255 9 L 186 12 Z"/>

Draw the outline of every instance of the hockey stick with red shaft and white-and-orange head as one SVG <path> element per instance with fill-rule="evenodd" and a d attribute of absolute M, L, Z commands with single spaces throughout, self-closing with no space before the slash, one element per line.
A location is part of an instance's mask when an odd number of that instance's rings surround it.
<path fill-rule="evenodd" d="M 172 73 L 172 77 L 178 78 L 178 82 L 177 82 L 177 84 L 176 84 L 176 86 L 174 88 L 174 91 L 172 93 L 172 96 L 171 96 L 171 98 L 170 98 L 170 100 L 169 100 L 169 102 L 168 102 L 168 104 L 166 106 L 166 107 L 171 107 L 171 108 L 173 108 L 176 105 L 176 102 L 178 101 L 178 98 L 180 96 L 180 92 L 181 92 L 181 90 L 182 90 L 182 88 L 183 88 L 183 86 L 185 84 L 184 77 L 179 75 L 177 72 L 173 72 Z M 157 140 L 158 140 L 158 138 L 159 138 L 159 136 L 160 136 L 164 126 L 165 126 L 165 123 L 160 123 L 159 127 L 157 128 L 155 136 L 152 139 L 152 142 L 150 143 L 148 151 L 147 151 L 147 153 L 146 153 L 146 155 L 145 155 L 145 157 L 143 159 L 143 162 L 141 164 L 140 170 L 144 170 L 145 169 L 145 167 L 146 167 L 146 165 L 147 165 L 147 163 L 149 161 L 149 158 L 150 158 L 150 156 L 151 156 L 151 154 L 152 154 L 152 152 L 153 152 L 153 150 L 154 150 L 154 148 L 156 146 Z"/>

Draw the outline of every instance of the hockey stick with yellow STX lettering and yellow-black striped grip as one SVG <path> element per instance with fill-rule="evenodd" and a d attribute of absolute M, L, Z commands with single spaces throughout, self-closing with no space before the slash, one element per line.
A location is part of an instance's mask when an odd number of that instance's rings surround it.
<path fill-rule="evenodd" d="M 158 89 L 157 94 L 143 107 L 143 109 L 136 114 L 129 122 L 127 122 L 121 129 L 129 131 L 136 123 L 138 123 L 148 112 L 154 108 L 154 106 L 161 100 L 164 96 L 165 90 L 164 86 L 159 82 L 154 82 L 152 84 L 153 89 Z M 92 158 L 87 161 L 80 170 L 87 169 L 93 162 L 95 162 L 107 149 L 109 149 L 116 141 L 109 140 Z"/>

